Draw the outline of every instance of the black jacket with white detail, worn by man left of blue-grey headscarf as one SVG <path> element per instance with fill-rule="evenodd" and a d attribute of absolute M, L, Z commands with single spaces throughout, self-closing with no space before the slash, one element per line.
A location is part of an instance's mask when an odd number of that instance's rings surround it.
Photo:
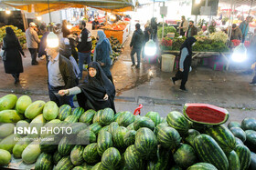
<path fill-rule="evenodd" d="M 84 28 L 80 33 L 78 50 L 80 53 L 91 52 L 91 33 L 86 28 Z"/>

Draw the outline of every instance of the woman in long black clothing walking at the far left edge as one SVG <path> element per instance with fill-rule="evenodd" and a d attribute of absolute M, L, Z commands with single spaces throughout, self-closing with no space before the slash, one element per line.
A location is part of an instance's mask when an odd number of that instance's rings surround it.
<path fill-rule="evenodd" d="M 4 66 L 5 73 L 12 74 L 15 78 L 15 84 L 19 82 L 19 74 L 23 73 L 22 58 L 20 53 L 26 58 L 19 44 L 14 30 L 11 27 L 5 28 L 6 35 L 3 39 L 3 47 L 5 50 Z"/>

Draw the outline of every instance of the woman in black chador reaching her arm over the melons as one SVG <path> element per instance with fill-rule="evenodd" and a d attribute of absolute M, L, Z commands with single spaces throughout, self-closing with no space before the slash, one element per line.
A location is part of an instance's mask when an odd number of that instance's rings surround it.
<path fill-rule="evenodd" d="M 80 107 L 85 110 L 98 111 L 109 107 L 115 113 L 114 85 L 97 62 L 91 62 L 88 65 L 88 72 L 84 83 L 66 90 L 59 90 L 59 95 L 77 95 Z"/>

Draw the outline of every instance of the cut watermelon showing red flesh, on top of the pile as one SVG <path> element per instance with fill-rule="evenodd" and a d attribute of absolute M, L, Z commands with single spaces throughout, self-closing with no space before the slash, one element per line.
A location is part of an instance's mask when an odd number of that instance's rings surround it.
<path fill-rule="evenodd" d="M 221 125 L 229 118 L 226 109 L 208 104 L 185 104 L 183 113 L 190 121 L 206 125 Z"/>

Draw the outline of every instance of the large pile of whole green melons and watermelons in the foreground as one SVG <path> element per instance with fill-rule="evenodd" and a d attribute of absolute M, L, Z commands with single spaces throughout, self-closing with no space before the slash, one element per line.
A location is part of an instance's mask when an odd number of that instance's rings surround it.
<path fill-rule="evenodd" d="M 72 111 L 69 105 L 32 102 L 27 95 L 0 99 L 0 123 L 31 126 L 36 122 L 37 127 L 77 124 L 72 135 L 57 137 L 56 145 L 16 142 L 14 125 L 0 125 L 1 166 L 8 165 L 13 154 L 27 164 L 36 163 L 36 170 L 256 169 L 255 118 L 246 118 L 241 124 L 230 122 L 226 127 L 225 122 L 195 123 L 186 113 L 176 111 L 163 118 L 157 112 L 114 114 L 111 108 L 96 112 L 78 107 Z M 77 145 L 69 143 L 74 139 Z"/>

